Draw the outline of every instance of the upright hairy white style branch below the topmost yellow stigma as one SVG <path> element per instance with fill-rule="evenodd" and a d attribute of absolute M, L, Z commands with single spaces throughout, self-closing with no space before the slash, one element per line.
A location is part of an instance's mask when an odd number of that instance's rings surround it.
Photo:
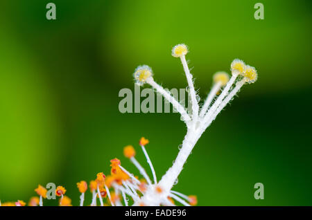
<path fill-rule="evenodd" d="M 193 112 L 192 120 L 197 121 L 199 106 L 198 106 L 198 101 L 196 99 L 196 91 L 195 91 L 194 84 L 193 84 L 193 75 L 191 75 L 189 71 L 189 66 L 187 65 L 187 60 L 185 59 L 185 55 L 182 55 L 180 59 L 184 68 L 185 75 L 187 76 L 187 83 L 189 84 L 189 91 L 191 95 L 191 105 L 192 105 L 192 112 Z M 196 123 L 194 124 L 196 125 Z"/>

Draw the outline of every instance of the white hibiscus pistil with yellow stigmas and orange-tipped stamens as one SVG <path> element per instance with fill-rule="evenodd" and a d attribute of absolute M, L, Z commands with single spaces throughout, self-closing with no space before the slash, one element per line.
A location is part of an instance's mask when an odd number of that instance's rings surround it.
<path fill-rule="evenodd" d="M 144 166 L 137 161 L 136 150 L 132 145 L 127 145 L 123 148 L 125 158 L 137 168 L 140 178 L 128 172 L 121 165 L 118 158 L 110 161 L 110 174 L 105 176 L 103 172 L 96 174 L 95 180 L 89 182 L 89 189 L 92 192 L 92 206 L 100 202 L 101 206 L 109 203 L 112 206 L 119 205 L 196 205 L 198 199 L 194 195 L 187 196 L 181 192 L 172 190 L 177 181 L 177 177 L 182 172 L 182 168 L 195 147 L 200 136 L 216 119 L 216 116 L 222 111 L 226 105 L 234 98 L 241 90 L 244 84 L 250 84 L 257 81 L 257 70 L 246 65 L 241 59 L 234 59 L 230 65 L 232 75 L 225 72 L 217 72 L 213 76 L 214 84 L 209 91 L 207 98 L 203 104 L 199 103 L 198 94 L 193 84 L 193 75 L 189 70 L 185 55 L 189 50 L 185 44 L 177 44 L 171 51 L 173 57 L 179 57 L 182 67 L 187 78 L 189 87 L 189 96 L 191 99 L 191 111 L 187 111 L 185 107 L 178 102 L 170 92 L 157 84 L 153 78 L 152 69 L 149 66 L 138 66 L 133 74 L 135 82 L 139 85 L 148 84 L 157 93 L 161 94 L 168 102 L 173 105 L 181 115 L 181 120 L 185 123 L 187 133 L 184 136 L 180 151 L 178 152 L 172 167 L 168 168 L 166 173 L 157 180 L 156 172 L 153 163 L 146 151 L 146 145 L 149 140 L 142 137 L 139 140 L 139 148 L 141 148 L 146 162 L 150 168 L 152 178 Z M 148 147 L 153 147 L 151 143 Z M 143 178 L 141 178 L 143 177 Z M 84 205 L 85 192 L 87 192 L 87 183 L 80 181 L 77 183 L 80 195 L 80 206 Z M 35 192 L 40 196 L 33 197 L 28 205 L 42 206 L 42 198 L 46 198 L 46 189 L 42 185 L 38 185 Z M 71 199 L 64 196 L 66 190 L 62 186 L 58 186 L 55 190 L 56 195 L 62 196 L 59 205 L 70 206 Z M 25 205 L 23 201 L 17 203 L 3 203 L 2 205 Z"/>

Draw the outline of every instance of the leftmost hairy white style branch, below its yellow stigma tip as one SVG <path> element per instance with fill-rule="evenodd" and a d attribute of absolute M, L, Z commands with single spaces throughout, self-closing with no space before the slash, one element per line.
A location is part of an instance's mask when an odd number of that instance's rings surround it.
<path fill-rule="evenodd" d="M 173 105 L 173 108 L 175 108 L 175 110 L 181 114 L 184 122 L 188 122 L 189 120 L 191 120 L 189 114 L 187 113 L 187 110 L 184 109 L 182 104 L 180 104 L 180 102 L 177 102 L 177 100 L 170 93 L 168 93 L 168 91 L 166 91 L 162 86 L 157 84 L 157 82 L 154 81 L 153 77 L 148 77 L 146 82 L 150 84 L 150 86 L 152 86 L 154 89 L 156 89 L 158 93 L 162 94 L 162 96 L 164 96 L 164 98 Z"/>

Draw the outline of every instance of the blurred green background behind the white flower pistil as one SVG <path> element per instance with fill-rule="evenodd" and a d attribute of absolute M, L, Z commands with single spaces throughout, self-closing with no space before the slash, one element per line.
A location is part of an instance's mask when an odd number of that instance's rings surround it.
<path fill-rule="evenodd" d="M 185 88 L 175 44 L 190 48 L 202 99 L 216 71 L 236 57 L 256 66 L 193 149 L 174 189 L 198 205 L 312 205 L 312 3 L 261 1 L 50 1 L 0 3 L 0 199 L 35 195 L 37 184 L 64 185 L 78 205 L 76 183 L 110 172 L 125 145 L 150 140 L 160 178 L 186 132 L 177 113 L 120 113 L 119 90 L 134 90 L 137 65 L 155 80 Z M 254 183 L 264 200 L 254 199 Z M 90 194 L 86 199 L 89 203 Z M 44 201 L 57 205 L 57 201 Z"/>

